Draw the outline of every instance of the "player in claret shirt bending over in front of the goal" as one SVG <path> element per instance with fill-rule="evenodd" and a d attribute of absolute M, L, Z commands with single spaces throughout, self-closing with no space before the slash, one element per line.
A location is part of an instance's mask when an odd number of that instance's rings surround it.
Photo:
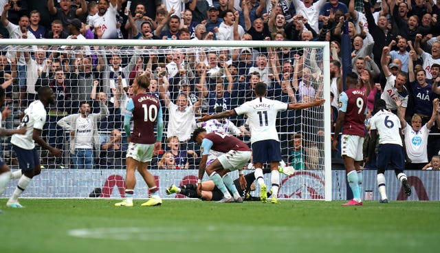
<path fill-rule="evenodd" d="M 248 163 L 251 152 L 247 144 L 238 138 L 226 133 L 206 133 L 206 130 L 199 127 L 192 133 L 192 139 L 201 145 L 201 161 L 199 164 L 199 181 L 197 190 L 201 192 L 201 179 L 203 175 L 209 175 L 210 179 L 223 193 L 223 199 L 219 202 L 243 202 L 238 190 L 236 189 L 231 177 L 227 174 L 232 170 L 239 170 L 239 181 L 241 188 L 246 187 L 246 180 L 243 175 L 243 166 Z M 206 166 L 210 150 L 223 153 L 212 163 Z M 223 177 L 223 179 L 222 179 Z M 232 192 L 232 196 L 228 192 Z"/>

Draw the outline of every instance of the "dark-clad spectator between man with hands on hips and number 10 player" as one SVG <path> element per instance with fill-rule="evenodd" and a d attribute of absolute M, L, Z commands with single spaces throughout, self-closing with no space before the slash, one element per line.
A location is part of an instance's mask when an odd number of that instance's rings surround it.
<path fill-rule="evenodd" d="M 121 168 L 121 166 L 124 166 L 126 146 L 121 142 L 122 133 L 118 129 L 113 129 L 109 140 L 101 144 L 100 166 L 103 168 Z"/>

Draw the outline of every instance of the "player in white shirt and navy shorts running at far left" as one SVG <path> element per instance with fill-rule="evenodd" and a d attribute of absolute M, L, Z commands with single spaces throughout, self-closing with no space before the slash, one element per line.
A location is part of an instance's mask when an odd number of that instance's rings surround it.
<path fill-rule="evenodd" d="M 19 203 L 21 193 L 28 187 L 32 178 L 41 173 L 40 157 L 35 148 L 35 142 L 41 147 L 46 148 L 52 155 L 61 157 L 61 150 L 50 146 L 41 137 L 41 131 L 46 122 L 46 107 L 55 103 L 55 95 L 52 88 L 43 86 L 39 89 L 39 100 L 32 102 L 25 109 L 21 124 L 19 127 L 26 126 L 27 131 L 24 135 L 14 134 L 11 138 L 12 148 L 19 159 L 19 166 L 23 175 L 19 179 L 19 184 L 14 193 L 6 203 L 10 208 L 22 208 Z"/>

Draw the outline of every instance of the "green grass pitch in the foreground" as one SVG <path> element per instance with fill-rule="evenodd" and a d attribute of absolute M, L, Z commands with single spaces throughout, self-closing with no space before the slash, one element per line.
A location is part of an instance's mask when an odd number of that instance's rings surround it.
<path fill-rule="evenodd" d="M 0 199 L 0 252 L 439 252 L 439 202 Z"/>

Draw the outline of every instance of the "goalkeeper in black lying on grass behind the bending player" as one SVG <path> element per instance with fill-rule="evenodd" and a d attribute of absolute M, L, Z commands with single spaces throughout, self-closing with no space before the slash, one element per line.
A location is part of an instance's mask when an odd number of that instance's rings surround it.
<path fill-rule="evenodd" d="M 295 172 L 293 167 L 279 167 L 278 170 L 285 175 L 292 175 Z M 270 173 L 270 168 L 263 169 L 263 173 Z M 255 190 L 255 175 L 254 173 L 249 173 L 245 175 L 246 188 L 242 189 L 239 179 L 234 180 L 234 185 L 239 191 L 239 195 L 243 198 L 243 201 L 260 201 L 260 197 L 254 197 L 250 195 L 250 192 Z M 201 192 L 197 192 L 197 184 L 184 184 L 183 186 L 175 186 L 172 184 L 170 187 L 166 188 L 166 194 L 170 195 L 173 193 L 180 193 L 186 197 L 199 198 L 205 201 L 219 201 L 223 198 L 223 193 L 217 186 L 215 186 L 214 181 L 204 181 L 201 183 Z M 267 192 L 267 195 L 272 195 L 272 192 Z"/>

